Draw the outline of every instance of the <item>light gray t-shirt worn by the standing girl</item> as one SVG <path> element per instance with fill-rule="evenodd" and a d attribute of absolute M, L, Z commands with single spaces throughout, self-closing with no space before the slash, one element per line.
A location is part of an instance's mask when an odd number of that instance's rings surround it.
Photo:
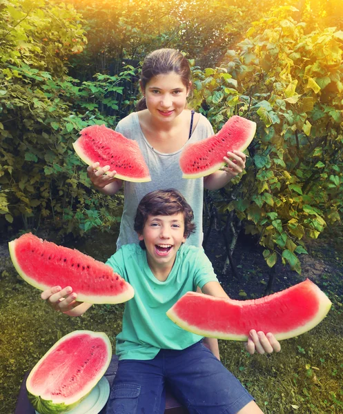
<path fill-rule="evenodd" d="M 124 210 L 121 217 L 117 249 L 124 244 L 138 243 L 137 233 L 133 230 L 133 222 L 136 215 L 139 201 L 144 195 L 154 190 L 166 190 L 176 188 L 184 195 L 188 204 L 193 208 L 194 221 L 197 226 L 195 233 L 190 235 L 186 244 L 202 246 L 202 206 L 204 196 L 204 177 L 197 179 L 183 179 L 179 167 L 179 157 L 182 149 L 170 154 L 163 154 L 154 150 L 148 143 L 141 130 L 137 112 L 133 112 L 124 119 L 121 119 L 115 128 L 124 137 L 137 141 L 143 157 L 150 170 L 151 181 L 146 183 L 133 183 L 124 181 Z M 193 134 L 185 144 L 202 141 L 213 135 L 213 128 L 210 122 L 200 115 Z"/>

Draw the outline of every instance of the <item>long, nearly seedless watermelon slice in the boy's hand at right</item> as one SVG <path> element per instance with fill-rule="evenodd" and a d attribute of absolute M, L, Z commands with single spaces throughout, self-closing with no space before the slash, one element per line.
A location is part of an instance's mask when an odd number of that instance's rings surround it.
<path fill-rule="evenodd" d="M 168 312 L 186 331 L 206 337 L 246 341 L 249 331 L 276 339 L 301 335 L 319 324 L 331 301 L 311 280 L 260 299 L 233 300 L 188 292 Z"/>

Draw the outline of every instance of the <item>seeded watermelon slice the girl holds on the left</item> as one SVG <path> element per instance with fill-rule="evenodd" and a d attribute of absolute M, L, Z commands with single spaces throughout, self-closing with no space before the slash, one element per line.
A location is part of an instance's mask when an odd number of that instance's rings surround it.
<path fill-rule="evenodd" d="M 89 166 L 110 166 L 117 171 L 115 177 L 126 181 L 151 181 L 146 161 L 136 141 L 127 139 L 104 125 L 92 125 L 80 132 L 81 137 L 72 145 L 79 157 Z"/>

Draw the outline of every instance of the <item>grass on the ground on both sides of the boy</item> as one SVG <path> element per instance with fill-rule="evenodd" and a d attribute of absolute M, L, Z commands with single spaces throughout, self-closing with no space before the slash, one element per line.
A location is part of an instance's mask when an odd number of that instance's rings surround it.
<path fill-rule="evenodd" d="M 17 276 L 9 257 L 0 257 L 0 264 L 0 413 L 11 414 L 24 373 L 61 336 L 103 331 L 115 349 L 124 306 L 93 306 L 79 318 L 55 313 Z M 342 275 L 331 275 L 331 282 L 329 315 L 312 331 L 282 342 L 281 353 L 249 355 L 242 343 L 219 341 L 222 362 L 264 413 L 343 413 Z"/>

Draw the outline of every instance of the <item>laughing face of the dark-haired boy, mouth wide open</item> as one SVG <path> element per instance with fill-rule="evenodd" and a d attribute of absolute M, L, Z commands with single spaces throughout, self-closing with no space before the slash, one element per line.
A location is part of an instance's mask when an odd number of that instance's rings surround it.
<path fill-rule="evenodd" d="M 150 268 L 173 267 L 177 250 L 186 242 L 184 214 L 148 216 L 139 240 L 144 240 Z"/>

